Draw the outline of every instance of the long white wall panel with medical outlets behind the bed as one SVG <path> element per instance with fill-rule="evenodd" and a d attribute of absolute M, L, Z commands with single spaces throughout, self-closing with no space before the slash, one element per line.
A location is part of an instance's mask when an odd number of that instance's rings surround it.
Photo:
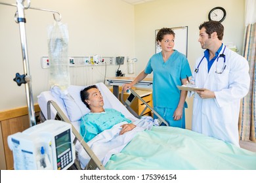
<path fill-rule="evenodd" d="M 114 65 L 114 57 L 101 57 L 98 55 L 87 57 L 69 57 L 70 67 L 85 67 L 92 65 Z M 41 67 L 47 69 L 50 67 L 51 60 L 48 57 L 41 58 Z"/>

